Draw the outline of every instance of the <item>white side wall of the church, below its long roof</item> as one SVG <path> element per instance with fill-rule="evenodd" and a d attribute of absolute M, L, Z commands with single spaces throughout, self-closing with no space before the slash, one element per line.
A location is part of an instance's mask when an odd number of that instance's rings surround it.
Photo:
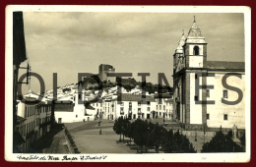
<path fill-rule="evenodd" d="M 236 105 L 226 105 L 222 103 L 224 86 L 222 83 L 225 73 L 215 72 L 215 77 L 208 77 L 207 84 L 214 85 L 214 89 L 210 90 L 210 97 L 207 100 L 215 100 L 215 105 L 207 105 L 207 113 L 210 114 L 210 119 L 207 120 L 208 127 L 212 128 L 232 128 L 233 124 L 237 125 L 238 129 L 245 128 L 245 75 L 242 79 L 237 77 L 228 77 L 226 83 L 239 89 L 243 92 L 243 99 Z M 225 100 L 235 101 L 238 94 L 235 91 L 227 90 L 228 98 Z M 227 120 L 224 120 L 224 114 L 227 114 Z"/>

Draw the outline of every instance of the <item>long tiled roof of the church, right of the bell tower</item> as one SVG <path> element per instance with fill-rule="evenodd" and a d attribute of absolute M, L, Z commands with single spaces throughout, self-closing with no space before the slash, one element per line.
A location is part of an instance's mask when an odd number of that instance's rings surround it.
<path fill-rule="evenodd" d="M 244 62 L 207 61 L 206 68 L 210 69 L 244 69 Z"/>

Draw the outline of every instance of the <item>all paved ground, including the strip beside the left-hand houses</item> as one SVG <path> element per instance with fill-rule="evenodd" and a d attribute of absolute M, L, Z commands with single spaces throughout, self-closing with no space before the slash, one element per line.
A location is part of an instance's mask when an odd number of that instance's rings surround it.
<path fill-rule="evenodd" d="M 154 119 L 151 121 L 153 123 L 163 123 L 163 119 Z M 170 120 L 165 120 L 165 123 L 173 124 L 173 122 Z M 98 121 L 65 124 L 81 153 L 141 152 L 141 148 L 138 147 L 133 141 L 131 145 L 128 143 L 130 139 L 124 138 L 124 140 L 119 141 L 120 136 L 114 133 L 113 125 L 114 122 L 111 120 L 101 120 L 100 126 L 98 126 Z M 100 130 L 101 135 L 99 135 Z M 204 139 L 200 137 L 197 138 L 197 141 L 195 141 L 195 137 L 188 137 L 188 139 L 193 143 L 193 146 L 197 152 L 200 152 Z M 206 138 L 205 142 L 209 141 L 210 139 L 212 138 Z M 38 140 L 36 152 L 68 153 L 65 141 L 63 130 L 60 132 L 50 133 L 44 139 Z M 33 150 L 33 152 L 34 151 L 35 150 Z M 143 152 L 145 152 L 145 149 L 143 149 Z M 149 149 L 148 153 L 156 153 L 156 151 L 154 149 Z"/>

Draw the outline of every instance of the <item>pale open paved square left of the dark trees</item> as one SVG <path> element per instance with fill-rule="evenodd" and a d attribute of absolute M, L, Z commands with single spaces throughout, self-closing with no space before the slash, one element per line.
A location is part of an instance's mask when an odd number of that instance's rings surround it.
<path fill-rule="evenodd" d="M 118 142 L 119 136 L 113 131 L 113 121 L 102 120 L 88 123 L 65 124 L 81 153 L 136 153 L 137 149 Z M 99 131 L 101 129 L 101 135 Z M 128 139 L 126 139 L 128 140 Z"/>

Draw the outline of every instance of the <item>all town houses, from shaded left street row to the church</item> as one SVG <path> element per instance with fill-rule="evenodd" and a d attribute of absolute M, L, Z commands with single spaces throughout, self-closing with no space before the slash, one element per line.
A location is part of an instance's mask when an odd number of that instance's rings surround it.
<path fill-rule="evenodd" d="M 75 87 L 75 86 L 74 86 Z M 62 88 L 63 89 L 63 88 Z M 45 136 L 51 123 L 72 123 L 95 121 L 98 119 L 114 120 L 119 117 L 129 119 L 172 119 L 172 96 L 170 94 L 149 94 L 142 98 L 139 87 L 127 92 L 123 87 L 118 96 L 117 87 L 104 89 L 101 95 L 82 89 L 78 86 L 69 92 L 57 90 L 57 100 L 52 102 L 53 91 L 48 91 L 40 102 L 35 103 L 39 93 L 31 90 L 24 95 L 26 101 L 18 100 L 18 131 L 25 140 L 20 149 L 30 152 L 33 142 Z M 52 113 L 54 115 L 52 115 Z M 51 120 L 52 119 L 52 120 Z M 23 140 L 22 139 L 22 140 Z"/>

